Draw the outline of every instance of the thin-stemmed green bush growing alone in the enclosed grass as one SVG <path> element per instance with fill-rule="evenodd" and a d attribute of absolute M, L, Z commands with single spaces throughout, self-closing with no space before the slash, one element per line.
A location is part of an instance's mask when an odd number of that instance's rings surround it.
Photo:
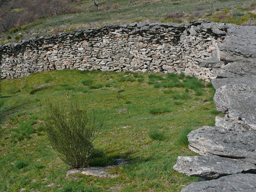
<path fill-rule="evenodd" d="M 93 141 L 103 120 L 77 101 L 60 104 L 48 100 L 46 110 L 44 131 L 63 162 L 72 168 L 89 166 L 94 152 Z"/>

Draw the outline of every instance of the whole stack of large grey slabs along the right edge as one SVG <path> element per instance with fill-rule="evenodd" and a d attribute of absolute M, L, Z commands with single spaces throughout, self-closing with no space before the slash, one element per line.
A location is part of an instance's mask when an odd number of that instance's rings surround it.
<path fill-rule="evenodd" d="M 202 182 L 182 192 L 256 191 L 256 27 L 234 26 L 227 33 L 217 54 L 225 65 L 212 79 L 225 117 L 187 135 L 188 147 L 201 156 L 178 157 L 173 168 Z"/>

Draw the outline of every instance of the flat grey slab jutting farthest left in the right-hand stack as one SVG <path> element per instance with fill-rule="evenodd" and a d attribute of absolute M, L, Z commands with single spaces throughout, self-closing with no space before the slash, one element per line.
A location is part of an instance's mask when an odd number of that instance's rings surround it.
<path fill-rule="evenodd" d="M 256 165 L 219 156 L 178 157 L 173 169 L 188 176 L 216 179 L 226 175 L 256 173 Z"/>

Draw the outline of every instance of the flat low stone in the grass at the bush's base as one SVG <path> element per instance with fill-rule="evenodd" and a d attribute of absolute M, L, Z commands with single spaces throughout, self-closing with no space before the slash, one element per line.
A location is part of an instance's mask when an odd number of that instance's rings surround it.
<path fill-rule="evenodd" d="M 101 168 L 101 167 L 92 167 L 92 168 L 78 168 L 78 169 L 71 169 L 66 172 L 66 177 L 70 174 L 83 174 L 83 175 L 90 175 L 95 177 L 118 177 L 118 174 L 109 174 L 112 171 L 111 166 Z"/>

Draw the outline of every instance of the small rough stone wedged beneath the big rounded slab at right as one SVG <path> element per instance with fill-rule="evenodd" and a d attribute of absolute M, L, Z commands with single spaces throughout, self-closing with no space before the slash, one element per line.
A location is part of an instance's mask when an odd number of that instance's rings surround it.
<path fill-rule="evenodd" d="M 224 127 L 226 129 L 231 129 L 231 130 L 253 130 L 251 127 L 249 127 L 245 122 L 237 120 L 237 119 L 232 119 L 228 117 L 215 117 L 215 126 L 216 127 Z"/>

